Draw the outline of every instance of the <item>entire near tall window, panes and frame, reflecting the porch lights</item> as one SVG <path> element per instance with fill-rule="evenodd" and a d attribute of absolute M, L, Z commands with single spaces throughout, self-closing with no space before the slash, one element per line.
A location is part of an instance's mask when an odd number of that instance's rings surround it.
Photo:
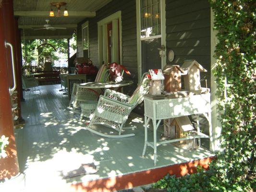
<path fill-rule="evenodd" d="M 162 69 L 166 56 L 159 55 L 165 48 L 165 0 L 137 0 L 138 65 L 139 75 L 149 69 Z M 139 77 L 140 77 L 139 76 Z"/>

